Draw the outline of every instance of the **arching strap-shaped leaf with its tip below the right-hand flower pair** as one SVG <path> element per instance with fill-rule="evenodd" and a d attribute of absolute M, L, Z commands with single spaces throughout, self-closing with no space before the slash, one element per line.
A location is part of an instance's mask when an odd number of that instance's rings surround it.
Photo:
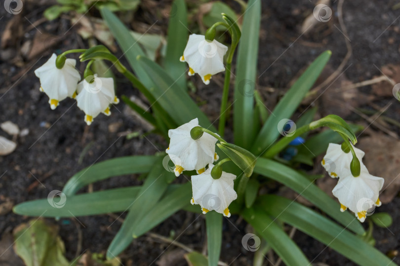
<path fill-rule="evenodd" d="M 296 191 L 339 223 L 348 226 L 353 232 L 358 234 L 364 233 L 364 229 L 359 222 L 351 223 L 354 219 L 353 215 L 349 212 L 340 212 L 339 203 L 320 190 L 320 188 L 313 184 L 313 181 L 308 180 L 290 167 L 269 159 L 258 158 L 254 172 L 272 178 Z"/>

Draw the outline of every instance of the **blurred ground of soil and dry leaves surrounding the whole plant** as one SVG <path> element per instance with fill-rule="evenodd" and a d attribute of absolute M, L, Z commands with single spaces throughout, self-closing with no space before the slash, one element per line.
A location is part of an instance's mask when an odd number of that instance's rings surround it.
<path fill-rule="evenodd" d="M 34 70 L 52 53 L 96 44 L 106 45 L 128 66 L 101 19 L 98 11 L 101 5 L 117 12 L 146 54 L 162 63 L 168 20 L 176 7 L 170 0 L 5 0 L 2 3 L 0 266 L 19 266 L 24 263 L 15 254 L 13 233 L 18 235 L 21 228 L 29 227 L 26 223 L 36 218 L 13 214 L 15 204 L 46 198 L 51 191 L 61 190 L 74 173 L 96 162 L 127 155 L 150 155 L 167 147 L 123 102 L 112 107 L 110 117 L 101 115 L 90 127 L 84 123 L 84 114 L 76 108 L 75 100 L 64 100 L 56 110 L 50 110 L 47 97 L 39 91 Z M 191 33 L 204 33 L 220 19 L 221 12 L 241 24 L 246 5 L 242 0 L 187 0 L 186 3 Z M 317 4 L 323 4 L 324 8 L 316 15 L 313 11 Z M 218 40 L 229 43 L 226 35 L 220 35 Z M 309 97 L 291 119 L 296 121 L 304 111 L 316 108 L 316 119 L 337 114 L 364 127 L 356 134 L 357 147 L 365 151 L 364 163 L 369 171 L 385 178 L 380 197 L 383 205 L 376 212 L 389 212 L 394 220 L 389 228 L 374 229 L 375 245 L 399 264 L 400 102 L 397 92 L 400 85 L 396 84 L 400 83 L 400 1 L 263 1 L 257 90 L 265 105 L 272 110 L 305 67 L 325 50 L 331 50 L 332 57 Z M 69 57 L 74 56 L 78 59 L 74 54 Z M 81 73 L 84 67 L 84 64 L 77 65 Z M 99 71 L 108 68 L 97 67 Z M 114 75 L 117 95 L 147 104 L 128 80 L 116 71 Z M 218 118 L 223 78 L 222 73 L 217 74 L 206 86 L 197 75 L 188 77 L 192 98 L 211 121 Z M 231 129 L 229 116 L 228 140 L 232 137 Z M 320 159 L 314 169 L 309 169 L 311 173 L 322 173 Z M 317 183 L 328 194 L 335 185 L 330 178 L 319 179 Z M 141 184 L 136 175 L 114 177 L 90 185 L 84 191 L 136 184 Z M 268 186 L 278 194 L 297 197 L 274 182 Z M 301 197 L 297 200 L 311 205 Z M 124 214 L 118 215 L 58 221 L 40 219 L 44 228 L 40 233 L 53 235 L 54 241 L 61 243 L 58 245 L 61 250 L 65 245 L 66 259 L 79 261 L 84 266 L 180 266 L 187 265 L 184 254 L 188 250 L 205 250 L 203 218 L 191 224 L 197 214 L 179 211 L 152 233 L 135 239 L 118 261 L 102 263 L 101 258 L 124 218 Z M 241 244 L 243 234 L 248 231 L 246 223 L 233 216 L 224 219 L 223 230 L 222 265 L 253 265 L 254 253 Z M 287 230 L 305 255 L 315 258 L 314 265 L 354 265 L 317 240 L 295 229 Z M 172 239 L 176 239 L 173 244 Z M 274 254 L 267 257 L 268 265 L 283 265 Z"/>

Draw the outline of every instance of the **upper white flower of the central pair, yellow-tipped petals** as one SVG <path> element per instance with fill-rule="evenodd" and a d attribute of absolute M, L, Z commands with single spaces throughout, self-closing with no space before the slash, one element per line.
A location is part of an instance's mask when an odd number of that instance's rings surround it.
<path fill-rule="evenodd" d="M 165 152 L 175 165 L 175 175 L 179 176 L 183 170 L 196 170 L 202 173 L 205 166 L 219 159 L 215 152 L 217 139 L 208 133 L 203 133 L 199 139 L 193 139 L 190 131 L 199 126 L 197 118 L 182 126 L 168 131 L 169 147 Z"/>

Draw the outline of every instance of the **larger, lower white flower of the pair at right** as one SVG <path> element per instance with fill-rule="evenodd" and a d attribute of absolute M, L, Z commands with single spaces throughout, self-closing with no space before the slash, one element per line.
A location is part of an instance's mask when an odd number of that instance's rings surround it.
<path fill-rule="evenodd" d="M 350 169 L 343 171 L 332 193 L 339 199 L 342 212 L 349 208 L 360 222 L 364 222 L 367 211 L 382 204 L 379 200 L 379 191 L 382 189 L 384 179 L 371 175 L 362 163 L 360 166 L 360 175 L 357 177 L 352 175 Z"/>

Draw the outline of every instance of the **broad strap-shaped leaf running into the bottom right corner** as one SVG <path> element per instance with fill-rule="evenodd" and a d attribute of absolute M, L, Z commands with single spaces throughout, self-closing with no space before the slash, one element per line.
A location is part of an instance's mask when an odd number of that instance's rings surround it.
<path fill-rule="evenodd" d="M 311 235 L 359 265 L 396 265 L 359 237 L 308 207 L 275 195 L 262 196 L 258 202 L 269 214 L 279 216 L 281 221 Z M 350 223 L 353 222 L 357 222 L 356 217 Z"/>

